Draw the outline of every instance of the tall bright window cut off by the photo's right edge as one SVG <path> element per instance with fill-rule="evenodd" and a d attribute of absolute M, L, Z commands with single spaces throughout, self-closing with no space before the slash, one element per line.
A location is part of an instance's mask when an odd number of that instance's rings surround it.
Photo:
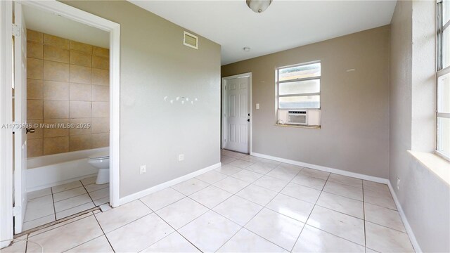
<path fill-rule="evenodd" d="M 437 2 L 437 153 L 450 159 L 450 1 Z"/>

